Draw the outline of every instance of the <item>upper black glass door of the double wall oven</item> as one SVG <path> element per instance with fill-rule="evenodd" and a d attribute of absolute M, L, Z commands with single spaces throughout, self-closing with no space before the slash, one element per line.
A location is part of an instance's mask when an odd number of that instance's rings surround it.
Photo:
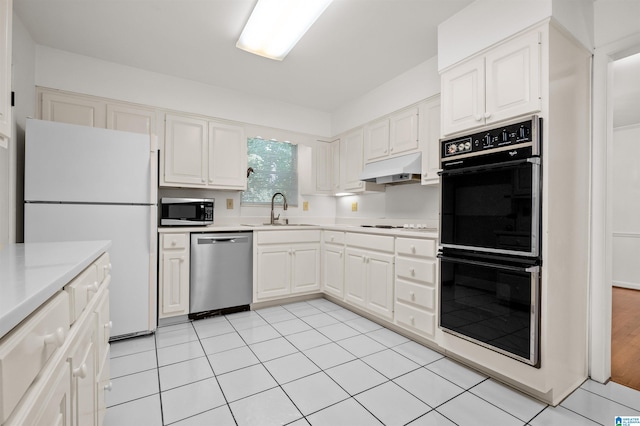
<path fill-rule="evenodd" d="M 539 255 L 539 158 L 445 170 L 441 191 L 443 247 Z"/>

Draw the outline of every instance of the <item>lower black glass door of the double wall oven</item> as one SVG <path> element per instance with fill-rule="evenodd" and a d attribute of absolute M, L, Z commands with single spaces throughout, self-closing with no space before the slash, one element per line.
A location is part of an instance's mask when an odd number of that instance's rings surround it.
<path fill-rule="evenodd" d="M 540 267 L 440 257 L 440 327 L 539 367 Z"/>

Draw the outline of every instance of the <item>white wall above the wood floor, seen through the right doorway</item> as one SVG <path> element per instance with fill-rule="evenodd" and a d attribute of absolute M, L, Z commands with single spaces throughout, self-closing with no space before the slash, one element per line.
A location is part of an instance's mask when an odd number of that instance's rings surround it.
<path fill-rule="evenodd" d="M 613 285 L 640 290 L 640 125 L 614 130 L 612 166 Z"/>

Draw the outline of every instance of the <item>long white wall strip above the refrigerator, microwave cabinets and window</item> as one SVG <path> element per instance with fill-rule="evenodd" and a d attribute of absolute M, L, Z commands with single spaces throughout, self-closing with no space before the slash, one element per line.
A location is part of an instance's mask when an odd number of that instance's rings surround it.
<path fill-rule="evenodd" d="M 302 133 L 331 133 L 325 112 L 41 45 L 36 84 Z"/>

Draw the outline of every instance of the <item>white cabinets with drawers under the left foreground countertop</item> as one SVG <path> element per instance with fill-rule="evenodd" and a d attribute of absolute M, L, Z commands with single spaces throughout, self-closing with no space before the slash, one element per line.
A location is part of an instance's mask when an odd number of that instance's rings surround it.
<path fill-rule="evenodd" d="M 0 339 L 3 426 L 102 424 L 109 388 L 111 278 L 104 262 L 103 257 L 92 263 Z M 91 283 L 96 288 L 78 292 L 98 268 L 103 279 Z M 81 311 L 70 308 L 70 293 L 86 297 Z"/>

